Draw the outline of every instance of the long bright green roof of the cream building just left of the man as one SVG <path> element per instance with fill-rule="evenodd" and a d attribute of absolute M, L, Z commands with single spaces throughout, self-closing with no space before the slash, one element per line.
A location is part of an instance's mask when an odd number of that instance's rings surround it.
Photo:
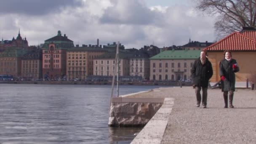
<path fill-rule="evenodd" d="M 200 57 L 199 50 L 176 50 L 163 51 L 150 59 L 197 59 Z"/>

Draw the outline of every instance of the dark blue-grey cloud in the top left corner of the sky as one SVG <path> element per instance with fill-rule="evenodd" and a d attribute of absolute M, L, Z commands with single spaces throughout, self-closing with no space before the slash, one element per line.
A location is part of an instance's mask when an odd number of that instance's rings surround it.
<path fill-rule="evenodd" d="M 44 15 L 58 12 L 64 7 L 77 7 L 80 0 L 1 0 L 0 14 L 16 13 Z"/>

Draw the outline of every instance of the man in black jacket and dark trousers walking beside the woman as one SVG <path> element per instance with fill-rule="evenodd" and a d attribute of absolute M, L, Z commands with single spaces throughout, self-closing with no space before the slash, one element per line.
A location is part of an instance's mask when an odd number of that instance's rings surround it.
<path fill-rule="evenodd" d="M 202 89 L 202 105 L 206 108 L 207 105 L 207 88 L 210 78 L 213 75 L 213 68 L 211 62 L 206 58 L 206 51 L 201 51 L 200 58 L 195 60 L 193 67 L 191 69 L 191 75 L 193 80 L 193 85 L 195 86 L 195 93 L 197 97 L 197 107 L 200 107 Z"/>

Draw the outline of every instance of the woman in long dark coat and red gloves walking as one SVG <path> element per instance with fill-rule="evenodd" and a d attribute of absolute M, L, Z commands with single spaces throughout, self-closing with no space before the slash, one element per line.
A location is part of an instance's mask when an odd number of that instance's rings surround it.
<path fill-rule="evenodd" d="M 239 72 L 237 61 L 232 59 L 230 51 L 224 51 L 224 59 L 219 64 L 219 75 L 221 76 L 221 91 L 225 102 L 224 108 L 227 108 L 228 96 L 229 107 L 234 108 L 232 102 L 235 91 L 235 72 Z"/>

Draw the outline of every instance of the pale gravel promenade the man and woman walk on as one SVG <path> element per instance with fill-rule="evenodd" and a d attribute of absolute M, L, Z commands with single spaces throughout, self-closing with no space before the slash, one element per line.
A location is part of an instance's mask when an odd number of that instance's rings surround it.
<path fill-rule="evenodd" d="M 129 97 L 172 97 L 174 106 L 162 144 L 256 144 L 256 91 L 237 89 L 224 109 L 219 89 L 208 90 L 207 109 L 195 107 L 192 87 L 159 88 Z"/>

